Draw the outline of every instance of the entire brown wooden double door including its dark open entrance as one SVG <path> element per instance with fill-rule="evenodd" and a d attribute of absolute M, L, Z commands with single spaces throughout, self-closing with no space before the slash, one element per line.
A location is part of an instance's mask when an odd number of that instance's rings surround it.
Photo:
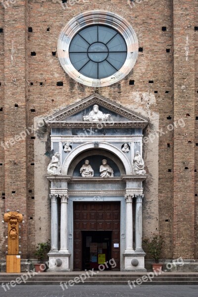
<path fill-rule="evenodd" d="M 114 259 L 116 266 L 107 269 L 120 270 L 120 202 L 73 203 L 74 271 L 97 269 L 99 253 Z"/>

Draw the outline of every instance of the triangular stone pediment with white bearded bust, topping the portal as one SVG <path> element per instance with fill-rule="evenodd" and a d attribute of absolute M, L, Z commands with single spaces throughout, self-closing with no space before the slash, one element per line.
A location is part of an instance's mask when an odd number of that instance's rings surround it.
<path fill-rule="evenodd" d="M 96 113 L 93 111 L 94 105 L 99 107 Z M 107 127 L 113 123 L 116 127 L 144 128 L 148 124 L 148 118 L 94 93 L 55 112 L 45 122 L 50 127 L 86 127 L 105 122 Z"/>

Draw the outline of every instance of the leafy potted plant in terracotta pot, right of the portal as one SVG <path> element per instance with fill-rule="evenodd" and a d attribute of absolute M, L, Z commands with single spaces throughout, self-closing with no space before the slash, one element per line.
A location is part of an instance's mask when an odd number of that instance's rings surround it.
<path fill-rule="evenodd" d="M 161 235 L 152 234 L 151 238 L 143 239 L 143 245 L 145 250 L 148 251 L 150 255 L 155 259 L 155 263 L 152 264 L 152 270 L 159 271 L 162 268 L 162 263 L 159 263 L 159 255 L 161 253 L 162 247 L 165 241 Z"/>

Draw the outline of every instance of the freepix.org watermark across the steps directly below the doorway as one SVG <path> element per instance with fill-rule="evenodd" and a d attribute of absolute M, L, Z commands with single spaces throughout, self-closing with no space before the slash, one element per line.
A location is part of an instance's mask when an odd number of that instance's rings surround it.
<path fill-rule="evenodd" d="M 85 280 L 87 278 L 90 278 L 94 275 L 99 274 L 100 271 L 103 271 L 105 268 L 109 268 L 109 267 L 115 268 L 116 267 L 116 263 L 115 260 L 112 258 L 109 261 L 104 262 L 104 264 L 100 264 L 99 265 L 99 270 L 94 271 L 94 268 L 92 268 L 91 270 L 85 270 L 85 273 L 82 273 L 79 275 L 79 277 L 75 277 L 73 280 L 69 280 L 68 282 L 60 282 L 60 287 L 62 288 L 62 290 L 64 291 L 65 289 L 68 289 L 68 286 L 72 287 L 75 284 L 79 284 L 80 282 L 82 282 L 84 284 Z"/>

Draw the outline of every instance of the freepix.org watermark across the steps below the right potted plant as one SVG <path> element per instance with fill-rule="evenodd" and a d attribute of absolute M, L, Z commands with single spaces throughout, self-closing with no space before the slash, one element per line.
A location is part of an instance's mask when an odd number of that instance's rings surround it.
<path fill-rule="evenodd" d="M 146 282 L 152 282 L 152 279 L 154 276 L 158 276 L 163 274 L 164 272 L 170 271 L 175 266 L 183 266 L 184 261 L 182 257 L 177 258 L 176 260 L 173 260 L 171 263 L 166 264 L 166 269 L 164 271 L 160 268 L 157 268 L 156 270 L 153 270 L 153 272 L 148 272 L 147 274 L 143 275 L 142 277 L 137 278 L 135 281 L 128 281 L 128 285 L 131 289 L 136 288 L 136 286 L 142 285 L 142 283 Z"/>

